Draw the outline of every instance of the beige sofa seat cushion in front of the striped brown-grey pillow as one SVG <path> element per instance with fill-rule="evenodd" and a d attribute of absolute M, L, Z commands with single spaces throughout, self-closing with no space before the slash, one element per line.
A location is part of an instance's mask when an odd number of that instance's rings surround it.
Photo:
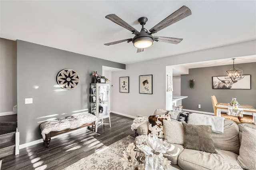
<path fill-rule="evenodd" d="M 217 154 L 199 150 L 184 149 L 178 158 L 178 165 L 184 170 L 243 170 L 236 161 L 238 154 L 216 149 Z"/>

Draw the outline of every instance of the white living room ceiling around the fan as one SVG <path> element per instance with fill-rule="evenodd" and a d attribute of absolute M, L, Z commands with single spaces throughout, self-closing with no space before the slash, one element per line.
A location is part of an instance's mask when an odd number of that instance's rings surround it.
<path fill-rule="evenodd" d="M 145 28 L 149 30 L 183 5 L 190 8 L 192 15 L 154 34 L 183 38 L 181 43 L 175 45 L 154 42 L 141 53 L 136 53 L 137 49 L 132 42 L 103 45 L 134 36 L 130 31 L 106 19 L 106 15 L 116 14 L 136 30 L 141 29 L 138 18 L 146 16 L 148 22 Z M 135 63 L 256 40 L 256 1 L 1 0 L 0 37 L 124 64 Z M 236 60 L 236 63 L 239 61 Z M 201 64 L 212 65 L 209 62 Z M 188 67 L 198 66 L 192 63 Z"/>

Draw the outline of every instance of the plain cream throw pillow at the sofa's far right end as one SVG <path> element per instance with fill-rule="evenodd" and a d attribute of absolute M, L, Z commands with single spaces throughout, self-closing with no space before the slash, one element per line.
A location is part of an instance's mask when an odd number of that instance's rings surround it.
<path fill-rule="evenodd" d="M 237 161 L 244 169 L 256 168 L 256 130 L 243 127 L 242 142 Z"/>

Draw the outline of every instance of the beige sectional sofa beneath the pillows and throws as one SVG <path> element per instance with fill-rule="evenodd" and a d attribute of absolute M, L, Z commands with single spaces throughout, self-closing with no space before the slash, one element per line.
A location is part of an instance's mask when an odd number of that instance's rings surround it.
<path fill-rule="evenodd" d="M 176 120 L 171 119 L 171 121 Z M 202 119 L 202 121 L 204 120 Z M 217 154 L 187 149 L 181 144 L 172 144 L 174 148 L 167 152 L 165 157 L 172 162 L 172 166 L 183 170 L 242 170 L 244 168 L 256 170 L 255 164 L 245 167 L 237 161 L 244 127 L 256 130 L 256 125 L 247 123 L 237 125 L 234 121 L 225 119 L 224 132 L 212 132 L 212 140 Z M 138 126 L 137 133 L 139 135 L 148 134 L 148 122 Z M 254 156 L 254 158 L 248 159 L 256 160 L 256 153 Z"/>

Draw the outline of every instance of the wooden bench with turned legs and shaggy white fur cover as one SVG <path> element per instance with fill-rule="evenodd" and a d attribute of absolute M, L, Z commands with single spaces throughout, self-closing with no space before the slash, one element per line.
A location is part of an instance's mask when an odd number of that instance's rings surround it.
<path fill-rule="evenodd" d="M 40 129 L 46 147 L 49 148 L 51 137 L 90 125 L 92 125 L 92 131 L 95 132 L 97 122 L 98 118 L 95 115 L 84 113 L 41 123 Z"/>

